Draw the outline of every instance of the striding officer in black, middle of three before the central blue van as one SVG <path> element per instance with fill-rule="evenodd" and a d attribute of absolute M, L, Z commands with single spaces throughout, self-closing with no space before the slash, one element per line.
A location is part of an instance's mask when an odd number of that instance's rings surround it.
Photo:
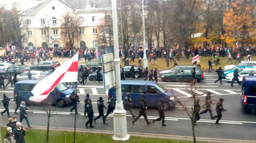
<path fill-rule="evenodd" d="M 132 125 L 134 125 L 134 122 L 136 122 L 142 115 L 144 116 L 144 119 L 146 120 L 147 124 L 151 124 L 151 122 L 148 121 L 146 109 L 148 109 L 148 107 L 146 106 L 145 91 L 143 91 L 140 99 L 139 115 L 134 118 L 134 120 L 132 121 Z"/>

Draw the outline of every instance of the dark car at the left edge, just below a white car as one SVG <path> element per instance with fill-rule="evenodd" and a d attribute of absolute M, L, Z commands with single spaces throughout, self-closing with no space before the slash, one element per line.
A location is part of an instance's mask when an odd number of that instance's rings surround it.
<path fill-rule="evenodd" d="M 17 74 L 21 74 L 23 72 L 29 71 L 30 68 L 28 66 L 11 66 L 10 68 L 0 71 L 0 74 L 7 78 L 10 73 L 14 73 L 14 70 L 16 70 Z"/>

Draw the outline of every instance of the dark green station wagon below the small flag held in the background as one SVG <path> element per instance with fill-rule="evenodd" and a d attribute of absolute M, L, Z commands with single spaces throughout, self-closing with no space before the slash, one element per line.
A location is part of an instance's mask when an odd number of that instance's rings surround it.
<path fill-rule="evenodd" d="M 171 73 L 161 75 L 163 81 L 190 81 L 192 79 L 191 69 L 179 69 Z M 202 81 L 205 79 L 203 72 L 200 69 L 195 69 L 195 81 Z"/>

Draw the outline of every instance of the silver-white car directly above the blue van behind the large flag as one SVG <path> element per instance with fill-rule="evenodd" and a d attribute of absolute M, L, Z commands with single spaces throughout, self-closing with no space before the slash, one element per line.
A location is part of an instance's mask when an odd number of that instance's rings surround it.
<path fill-rule="evenodd" d="M 30 71 L 30 73 L 32 74 L 31 79 L 34 80 L 41 80 L 47 75 L 44 71 Z M 28 71 L 17 75 L 17 80 L 28 80 Z"/>

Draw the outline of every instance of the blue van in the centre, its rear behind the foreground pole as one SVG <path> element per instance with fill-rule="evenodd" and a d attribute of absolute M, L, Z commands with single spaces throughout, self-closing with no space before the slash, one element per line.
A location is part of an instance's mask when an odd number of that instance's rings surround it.
<path fill-rule="evenodd" d="M 140 105 L 140 95 L 142 94 L 143 90 L 146 91 L 146 104 L 149 107 L 157 107 L 161 98 L 165 100 L 165 110 L 170 109 L 170 107 L 175 107 L 176 105 L 177 101 L 173 97 L 174 94 L 155 81 L 121 80 L 121 85 L 122 100 L 124 100 L 126 93 L 130 92 L 132 105 Z M 110 97 L 110 95 L 114 97 L 115 101 L 116 88 L 111 88 L 108 90 L 108 96 Z"/>

